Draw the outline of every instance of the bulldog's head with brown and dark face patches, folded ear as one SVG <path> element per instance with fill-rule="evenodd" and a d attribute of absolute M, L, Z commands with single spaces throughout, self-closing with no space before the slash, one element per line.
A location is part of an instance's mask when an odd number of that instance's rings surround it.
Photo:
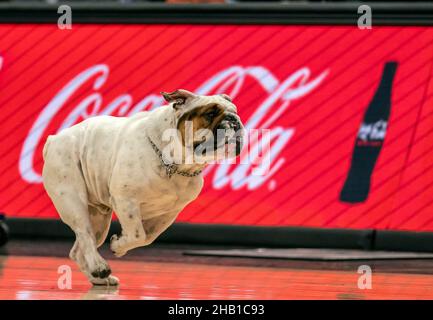
<path fill-rule="evenodd" d="M 161 94 L 175 110 L 183 145 L 196 158 L 212 161 L 240 154 L 244 126 L 228 95 L 201 96 L 183 89 Z"/>

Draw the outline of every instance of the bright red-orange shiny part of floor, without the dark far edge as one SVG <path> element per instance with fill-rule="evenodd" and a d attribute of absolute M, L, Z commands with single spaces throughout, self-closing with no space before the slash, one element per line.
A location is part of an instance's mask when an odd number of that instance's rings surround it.
<path fill-rule="evenodd" d="M 110 260 L 119 288 L 93 287 L 67 258 L 0 256 L 0 299 L 432 299 L 433 276 L 353 270 Z M 72 269 L 59 288 L 59 267 Z M 64 270 L 64 269 L 63 269 Z M 62 269 L 60 268 L 60 271 Z M 64 272 L 64 271 L 63 271 Z M 60 287 L 65 284 L 60 279 Z"/>

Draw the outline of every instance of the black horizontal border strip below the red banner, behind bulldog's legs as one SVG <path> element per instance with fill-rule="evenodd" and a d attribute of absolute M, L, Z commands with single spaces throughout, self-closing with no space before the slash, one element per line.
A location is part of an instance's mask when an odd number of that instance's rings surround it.
<path fill-rule="evenodd" d="M 9 218 L 12 239 L 73 239 L 58 219 Z M 109 236 L 119 233 L 117 221 Z M 156 242 L 267 248 L 337 248 L 433 252 L 433 232 L 354 230 L 306 227 L 263 227 L 175 223 Z"/>

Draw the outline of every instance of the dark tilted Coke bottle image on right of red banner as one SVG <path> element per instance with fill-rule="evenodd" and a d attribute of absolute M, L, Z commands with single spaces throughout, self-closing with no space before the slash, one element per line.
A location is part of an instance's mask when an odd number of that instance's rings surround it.
<path fill-rule="evenodd" d="M 356 137 L 349 173 L 340 193 L 343 202 L 363 202 L 368 197 L 371 175 L 388 126 L 392 81 L 396 69 L 396 62 L 385 64 L 379 87 L 365 112 Z"/>

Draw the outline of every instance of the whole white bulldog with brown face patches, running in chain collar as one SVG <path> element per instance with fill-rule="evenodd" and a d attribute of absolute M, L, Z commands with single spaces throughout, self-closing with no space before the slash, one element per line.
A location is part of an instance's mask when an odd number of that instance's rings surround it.
<path fill-rule="evenodd" d="M 49 136 L 44 187 L 75 232 L 70 257 L 93 284 L 118 284 L 99 255 L 114 211 L 117 257 L 152 243 L 200 193 L 209 161 L 233 158 L 243 125 L 227 95 L 162 93 L 169 103 L 120 118 L 99 116 Z"/>

